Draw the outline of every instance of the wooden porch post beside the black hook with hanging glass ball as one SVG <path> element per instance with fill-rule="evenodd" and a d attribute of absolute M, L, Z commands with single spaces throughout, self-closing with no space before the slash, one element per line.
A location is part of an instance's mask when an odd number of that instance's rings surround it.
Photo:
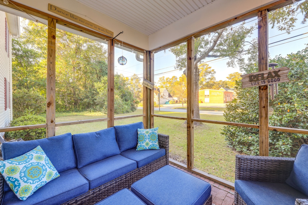
<path fill-rule="evenodd" d="M 114 94 L 115 94 L 115 46 L 111 45 L 111 39 L 108 41 L 107 57 L 107 128 L 114 126 Z"/>

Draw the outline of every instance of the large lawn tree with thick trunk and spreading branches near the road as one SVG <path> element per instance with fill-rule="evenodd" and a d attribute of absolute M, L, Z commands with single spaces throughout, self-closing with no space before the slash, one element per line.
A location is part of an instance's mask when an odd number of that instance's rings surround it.
<path fill-rule="evenodd" d="M 237 63 L 241 65 L 244 61 L 242 53 L 247 51 L 245 48 L 246 37 L 252 34 L 256 26 L 245 27 L 245 24 L 234 27 L 233 32 L 230 32 L 231 27 L 217 30 L 210 37 L 201 36 L 195 38 L 195 55 L 194 55 L 194 117 L 200 118 L 199 112 L 199 80 L 200 69 L 198 64 L 204 62 L 208 57 L 229 57 L 228 66 L 235 66 Z M 248 49 L 252 49 L 255 45 L 249 44 Z M 170 51 L 176 56 L 175 69 L 184 69 L 186 75 L 186 42 L 172 47 Z M 199 123 L 195 122 L 195 125 Z"/>

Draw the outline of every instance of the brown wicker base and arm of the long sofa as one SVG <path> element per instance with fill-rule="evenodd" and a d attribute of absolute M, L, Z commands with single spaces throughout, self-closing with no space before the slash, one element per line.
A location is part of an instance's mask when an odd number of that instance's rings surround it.
<path fill-rule="evenodd" d="M 107 198 L 108 196 L 114 194 L 117 191 L 120 191 L 123 188 L 130 188 L 131 185 L 142 177 L 156 171 L 157 169 L 163 167 L 166 164 L 169 164 L 169 136 L 164 134 L 158 134 L 158 143 L 160 148 L 166 150 L 166 155 L 160 157 L 159 159 L 144 165 L 143 167 L 137 168 L 133 171 L 128 172 L 116 179 L 113 179 L 110 182 L 107 182 L 99 187 L 89 190 L 87 193 L 80 195 L 70 201 L 67 201 L 64 204 L 86 204 L 92 205 L 102 199 Z M 2 177 L 2 175 L 1 175 Z M 2 199 L 3 196 L 3 177 L 0 179 L 0 196 Z"/>

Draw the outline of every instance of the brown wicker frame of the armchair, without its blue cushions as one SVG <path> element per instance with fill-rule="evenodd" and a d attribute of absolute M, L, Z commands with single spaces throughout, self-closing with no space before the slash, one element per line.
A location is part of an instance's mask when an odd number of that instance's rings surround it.
<path fill-rule="evenodd" d="M 235 180 L 284 183 L 289 177 L 295 158 L 236 155 Z M 246 205 L 235 190 L 235 205 Z M 296 199 L 295 205 L 308 205 L 307 199 Z"/>

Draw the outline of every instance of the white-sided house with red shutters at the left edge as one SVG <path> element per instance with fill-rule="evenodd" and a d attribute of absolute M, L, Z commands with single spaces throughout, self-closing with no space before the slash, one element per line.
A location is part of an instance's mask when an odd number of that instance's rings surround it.
<path fill-rule="evenodd" d="M 19 17 L 0 11 L 0 127 L 7 127 L 12 115 L 12 38 L 20 36 Z M 2 142 L 4 132 L 0 132 Z"/>

